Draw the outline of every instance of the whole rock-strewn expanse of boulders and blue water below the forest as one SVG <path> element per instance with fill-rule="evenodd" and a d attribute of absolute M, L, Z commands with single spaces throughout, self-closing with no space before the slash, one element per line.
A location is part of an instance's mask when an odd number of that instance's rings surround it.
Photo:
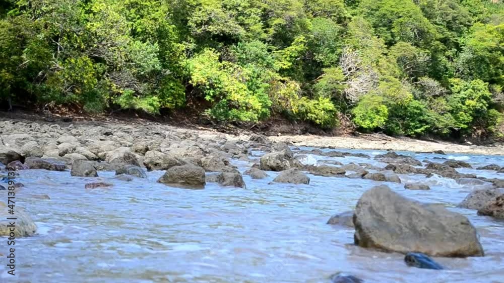
<path fill-rule="evenodd" d="M 461 154 L 449 152 L 460 146 L 423 142 L 409 147 L 425 151 L 416 153 L 340 148 L 348 141 L 335 148 L 341 138 L 317 148 L 305 145 L 327 139 L 156 123 L 7 120 L 0 131 L 0 162 L 17 173 L 24 281 L 504 276 L 496 268 L 504 256 L 504 160 L 488 155 L 502 149 L 462 146 L 470 154 Z M 1 235 L 7 192 L 0 190 Z M 402 260 L 409 251 L 448 268 L 414 270 Z"/>

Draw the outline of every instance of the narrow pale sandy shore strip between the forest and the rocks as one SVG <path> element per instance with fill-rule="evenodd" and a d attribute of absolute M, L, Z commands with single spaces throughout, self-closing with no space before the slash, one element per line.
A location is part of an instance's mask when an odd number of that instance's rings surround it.
<path fill-rule="evenodd" d="M 81 117 L 75 121 L 63 122 L 44 121 L 44 116 L 33 113 L 2 113 L 0 114 L 0 122 L 13 123 L 37 123 L 40 125 L 59 125 L 61 129 L 67 129 L 68 134 L 72 134 L 72 130 L 79 129 L 86 132 L 87 129 L 93 127 L 104 127 L 110 130 L 121 127 L 135 127 L 147 133 L 149 130 L 163 130 L 173 134 L 183 135 L 184 133 L 193 133 L 203 139 L 212 139 L 215 137 L 225 136 L 228 140 L 240 141 L 248 140 L 250 135 L 263 134 L 239 127 L 212 127 L 202 126 L 195 123 L 169 123 L 166 121 L 157 122 L 146 120 L 138 117 L 132 119 L 117 119 L 114 117 Z M 140 127 L 137 128 L 137 127 Z M 26 129 L 19 129 L 9 133 L 3 132 L 4 135 L 16 133 L 26 133 Z M 75 135 L 77 136 L 77 135 Z M 360 134 L 358 136 L 341 135 L 341 136 L 323 136 L 313 134 L 277 134 L 267 135 L 269 140 L 273 142 L 291 143 L 294 146 L 307 146 L 319 148 L 341 148 L 341 149 L 366 149 L 366 150 L 393 150 L 393 151 L 411 151 L 411 152 L 432 152 L 442 150 L 446 153 L 465 153 L 465 154 L 487 154 L 487 155 L 504 155 L 504 146 L 497 143 L 495 146 L 482 145 L 462 145 L 449 141 L 433 140 L 426 141 L 408 137 L 392 137 L 384 134 Z M 148 136 L 144 137 L 148 138 Z"/>

